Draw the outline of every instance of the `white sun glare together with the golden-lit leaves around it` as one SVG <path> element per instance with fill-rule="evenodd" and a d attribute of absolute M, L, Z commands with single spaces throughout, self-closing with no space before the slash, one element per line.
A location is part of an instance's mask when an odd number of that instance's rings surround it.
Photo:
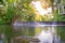
<path fill-rule="evenodd" d="M 31 1 L 31 6 L 34 8 L 35 13 L 37 14 L 35 18 L 36 20 L 42 20 L 41 16 L 43 16 L 43 18 L 47 17 L 47 19 L 53 18 L 50 0 L 49 1 L 44 1 L 44 0 Z"/>

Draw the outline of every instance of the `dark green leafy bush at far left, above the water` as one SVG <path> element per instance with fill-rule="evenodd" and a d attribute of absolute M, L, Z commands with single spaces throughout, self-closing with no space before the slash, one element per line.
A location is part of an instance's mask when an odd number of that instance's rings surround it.
<path fill-rule="evenodd" d="M 3 12 L 0 14 L 0 25 L 10 24 L 12 22 L 12 18 L 14 17 L 14 8 L 11 8 L 10 5 L 8 6 L 9 8 L 5 10 L 5 13 Z"/>

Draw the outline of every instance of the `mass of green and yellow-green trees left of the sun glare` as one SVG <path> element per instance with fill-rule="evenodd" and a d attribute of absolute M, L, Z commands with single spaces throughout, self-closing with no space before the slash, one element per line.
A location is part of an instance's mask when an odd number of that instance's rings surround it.
<path fill-rule="evenodd" d="M 30 0 L 3 0 L 3 2 L 4 5 L 0 9 L 0 25 L 11 24 L 14 22 L 15 15 L 20 15 L 21 22 L 34 20 L 35 15 L 30 6 Z"/>

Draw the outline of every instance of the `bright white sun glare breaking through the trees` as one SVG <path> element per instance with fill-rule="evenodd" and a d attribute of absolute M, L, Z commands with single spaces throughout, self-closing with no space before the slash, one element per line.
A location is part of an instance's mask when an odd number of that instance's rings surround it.
<path fill-rule="evenodd" d="M 31 1 L 32 6 L 36 9 L 37 13 L 40 15 L 52 13 L 52 8 L 43 9 L 40 1 Z"/>

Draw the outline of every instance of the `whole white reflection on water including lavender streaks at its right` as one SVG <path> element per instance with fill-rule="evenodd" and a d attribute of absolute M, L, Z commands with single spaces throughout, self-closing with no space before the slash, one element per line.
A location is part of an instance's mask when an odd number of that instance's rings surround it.
<path fill-rule="evenodd" d="M 40 40 L 39 43 L 60 43 L 61 39 L 56 35 L 55 27 L 48 27 L 46 30 L 44 27 L 46 26 L 43 26 L 41 31 L 35 35 L 35 38 L 38 38 Z"/>

